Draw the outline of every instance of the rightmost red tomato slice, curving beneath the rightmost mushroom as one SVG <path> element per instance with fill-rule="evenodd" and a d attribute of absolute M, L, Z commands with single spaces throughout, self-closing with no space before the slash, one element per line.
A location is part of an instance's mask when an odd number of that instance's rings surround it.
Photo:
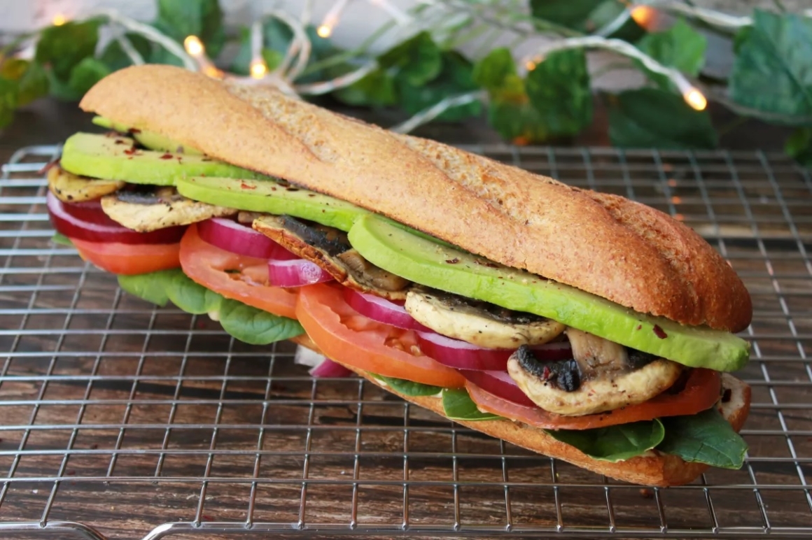
<path fill-rule="evenodd" d="M 710 409 L 719 399 L 721 385 L 722 379 L 718 371 L 696 367 L 691 371 L 685 388 L 679 393 L 665 392 L 644 403 L 585 416 L 563 416 L 548 413 L 538 407 L 519 405 L 486 392 L 470 381 L 465 384 L 465 388 L 468 389 L 477 407 L 489 413 L 544 429 L 588 430 L 593 427 L 616 426 L 664 416 L 698 414 Z"/>

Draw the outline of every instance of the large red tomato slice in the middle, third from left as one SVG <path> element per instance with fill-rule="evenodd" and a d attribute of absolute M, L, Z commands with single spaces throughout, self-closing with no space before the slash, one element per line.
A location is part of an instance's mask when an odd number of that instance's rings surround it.
<path fill-rule="evenodd" d="M 348 306 L 339 285 L 301 289 L 296 318 L 328 358 L 378 375 L 460 388 L 460 373 L 424 356 L 414 331 L 378 323 Z"/>

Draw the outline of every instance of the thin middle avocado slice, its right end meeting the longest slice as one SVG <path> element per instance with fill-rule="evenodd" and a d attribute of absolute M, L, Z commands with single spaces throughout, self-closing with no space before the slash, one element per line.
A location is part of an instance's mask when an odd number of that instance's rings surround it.
<path fill-rule="evenodd" d="M 286 214 L 343 231 L 348 231 L 358 216 L 369 213 L 330 195 L 276 180 L 189 176 L 178 178 L 175 186 L 180 195 L 189 199 L 251 212 Z"/>

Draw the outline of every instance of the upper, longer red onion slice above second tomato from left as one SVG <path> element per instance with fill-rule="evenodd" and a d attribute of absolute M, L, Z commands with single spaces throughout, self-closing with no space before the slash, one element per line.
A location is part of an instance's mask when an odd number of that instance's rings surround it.
<path fill-rule="evenodd" d="M 222 250 L 257 259 L 298 259 L 283 246 L 247 225 L 222 217 L 212 217 L 197 224 L 197 234 Z"/>

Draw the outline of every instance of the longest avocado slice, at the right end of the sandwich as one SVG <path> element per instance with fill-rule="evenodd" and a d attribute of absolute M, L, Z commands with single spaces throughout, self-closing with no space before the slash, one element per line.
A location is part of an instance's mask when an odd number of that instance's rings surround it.
<path fill-rule="evenodd" d="M 421 285 L 542 315 L 685 366 L 734 371 L 749 357 L 747 341 L 729 332 L 637 313 L 569 285 L 420 238 L 378 216 L 357 219 L 349 240 L 372 264 Z"/>

